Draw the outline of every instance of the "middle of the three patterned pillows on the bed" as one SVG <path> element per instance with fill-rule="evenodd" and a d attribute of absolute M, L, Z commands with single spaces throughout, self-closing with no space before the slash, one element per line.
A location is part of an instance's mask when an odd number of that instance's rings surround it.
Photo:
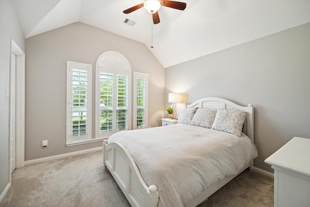
<path fill-rule="evenodd" d="M 198 127 L 211 128 L 216 114 L 216 109 L 198 108 L 190 124 Z"/>

